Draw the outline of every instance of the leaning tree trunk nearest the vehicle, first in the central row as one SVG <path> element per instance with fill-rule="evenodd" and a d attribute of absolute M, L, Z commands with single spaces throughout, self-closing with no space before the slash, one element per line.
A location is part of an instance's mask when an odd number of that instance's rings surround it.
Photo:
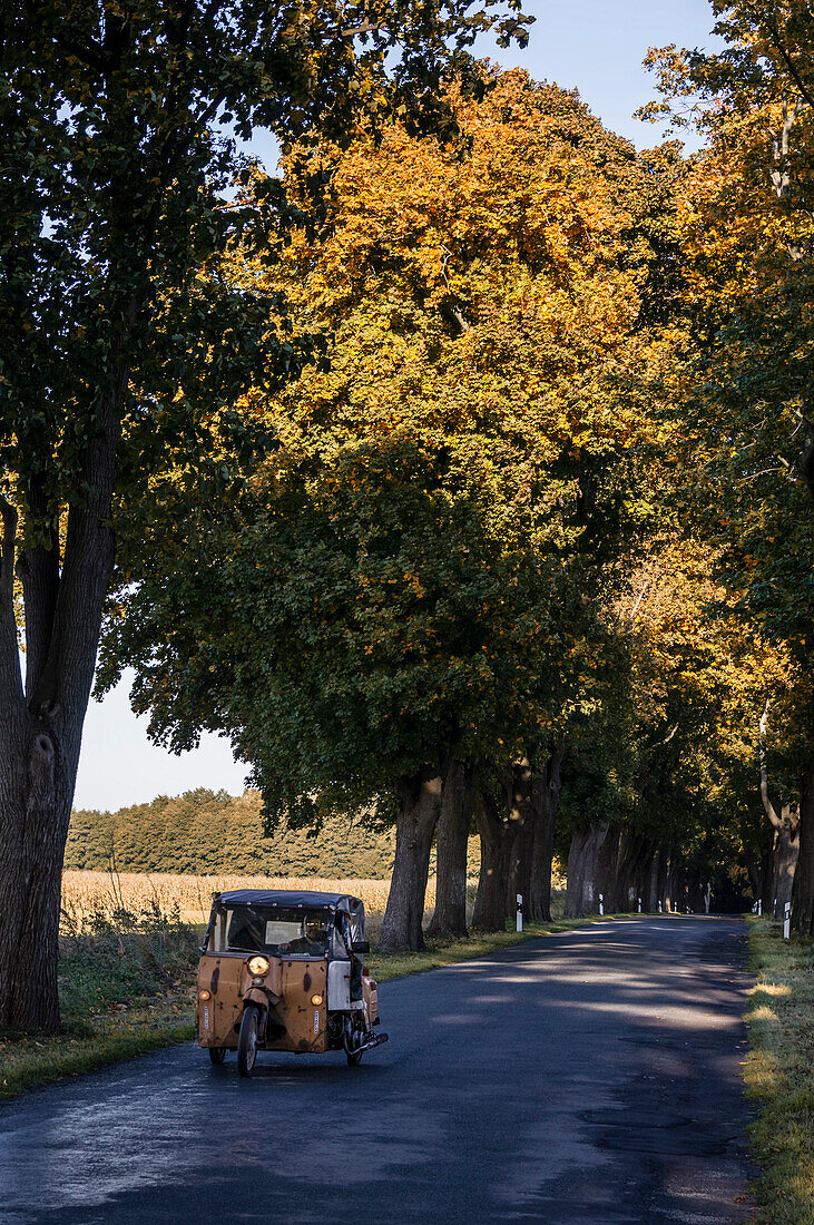
<path fill-rule="evenodd" d="M 379 948 L 387 953 L 424 948 L 424 903 L 432 835 L 441 811 L 442 778 L 422 772 L 399 783 L 395 861 Z"/>

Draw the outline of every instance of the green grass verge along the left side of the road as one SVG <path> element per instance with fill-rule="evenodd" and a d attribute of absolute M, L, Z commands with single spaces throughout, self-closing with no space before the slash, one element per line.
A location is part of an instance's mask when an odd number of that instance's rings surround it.
<path fill-rule="evenodd" d="M 521 935 L 514 930 L 475 932 L 468 940 L 430 941 L 421 953 L 373 952 L 367 963 L 384 982 L 613 918 L 528 924 Z M 106 931 L 62 940 L 59 979 L 65 1033 L 53 1038 L 0 1034 L 0 1099 L 192 1039 L 200 940 L 201 930 L 181 922 L 162 931 Z"/>

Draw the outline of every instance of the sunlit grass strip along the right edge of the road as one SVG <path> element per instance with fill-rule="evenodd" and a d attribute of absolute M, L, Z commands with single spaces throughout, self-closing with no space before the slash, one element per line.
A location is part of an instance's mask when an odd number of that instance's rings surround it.
<path fill-rule="evenodd" d="M 752 1050 L 749 1096 L 760 1105 L 750 1126 L 763 1174 L 755 1185 L 759 1225 L 814 1221 L 814 951 L 785 941 L 780 925 L 749 918 L 749 964 L 758 981 L 747 1009 Z"/>

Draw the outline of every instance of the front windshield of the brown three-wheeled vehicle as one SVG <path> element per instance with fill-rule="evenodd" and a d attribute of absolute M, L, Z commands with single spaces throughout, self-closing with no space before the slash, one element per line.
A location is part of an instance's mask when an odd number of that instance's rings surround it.
<path fill-rule="evenodd" d="M 326 957 L 330 911 L 302 907 L 236 905 L 215 911 L 209 948 L 214 953 L 271 953 Z"/>

